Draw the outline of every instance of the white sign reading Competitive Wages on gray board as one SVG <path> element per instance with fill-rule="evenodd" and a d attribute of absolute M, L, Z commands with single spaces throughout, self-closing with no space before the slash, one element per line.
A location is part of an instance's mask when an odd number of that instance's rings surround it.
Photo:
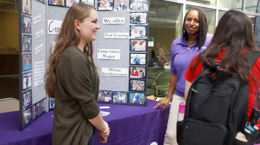
<path fill-rule="evenodd" d="M 97 59 L 120 60 L 120 49 L 98 49 Z"/>

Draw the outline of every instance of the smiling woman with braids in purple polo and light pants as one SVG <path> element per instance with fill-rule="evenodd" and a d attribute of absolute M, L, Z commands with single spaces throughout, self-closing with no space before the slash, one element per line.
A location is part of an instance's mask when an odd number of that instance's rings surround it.
<path fill-rule="evenodd" d="M 189 66 L 192 58 L 205 50 L 213 35 L 207 34 L 208 17 L 201 8 L 189 10 L 183 20 L 182 36 L 172 42 L 171 47 L 171 77 L 170 87 L 165 100 L 161 101 L 153 109 L 164 105 L 163 110 L 168 106 L 172 98 L 167 130 L 164 138 L 165 144 L 177 144 L 176 122 L 179 103 L 185 102 L 184 89 L 185 78 L 183 74 Z"/>

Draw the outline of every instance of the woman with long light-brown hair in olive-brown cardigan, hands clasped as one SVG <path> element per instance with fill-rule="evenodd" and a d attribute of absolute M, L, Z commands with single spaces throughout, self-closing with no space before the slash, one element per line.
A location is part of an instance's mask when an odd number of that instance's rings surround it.
<path fill-rule="evenodd" d="M 55 97 L 52 144 L 93 144 L 95 128 L 105 143 L 109 127 L 97 105 L 99 75 L 93 44 L 100 28 L 96 9 L 74 4 L 68 10 L 49 58 L 48 96 Z"/>

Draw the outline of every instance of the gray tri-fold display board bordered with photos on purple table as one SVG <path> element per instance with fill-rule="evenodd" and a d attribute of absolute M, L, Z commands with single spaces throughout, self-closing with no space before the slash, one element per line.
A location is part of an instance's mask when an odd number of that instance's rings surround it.
<path fill-rule="evenodd" d="M 55 108 L 44 75 L 55 38 L 75 2 L 96 7 L 101 28 L 94 41 L 99 103 L 146 106 L 148 0 L 19 1 L 20 130 Z"/>

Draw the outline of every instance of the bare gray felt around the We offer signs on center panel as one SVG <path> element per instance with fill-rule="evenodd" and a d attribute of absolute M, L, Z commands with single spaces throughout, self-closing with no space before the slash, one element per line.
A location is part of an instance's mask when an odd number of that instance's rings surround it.
<path fill-rule="evenodd" d="M 120 49 L 120 60 L 96 59 L 99 67 L 99 90 L 128 92 L 129 76 L 102 76 L 101 68 L 127 68 L 129 70 L 129 38 L 104 38 L 104 33 L 129 33 L 130 12 L 98 11 L 100 29 L 97 32 L 95 58 L 97 49 Z M 125 24 L 103 24 L 103 18 L 125 17 Z"/>

